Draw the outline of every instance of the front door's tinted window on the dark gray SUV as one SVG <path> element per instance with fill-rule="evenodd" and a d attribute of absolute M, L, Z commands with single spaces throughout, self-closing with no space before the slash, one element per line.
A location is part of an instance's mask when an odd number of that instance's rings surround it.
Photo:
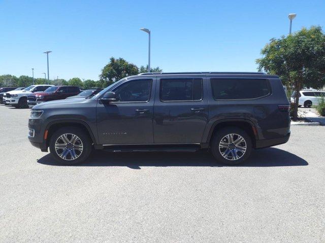
<path fill-rule="evenodd" d="M 150 99 L 152 79 L 131 80 L 113 91 L 121 102 L 148 101 Z"/>

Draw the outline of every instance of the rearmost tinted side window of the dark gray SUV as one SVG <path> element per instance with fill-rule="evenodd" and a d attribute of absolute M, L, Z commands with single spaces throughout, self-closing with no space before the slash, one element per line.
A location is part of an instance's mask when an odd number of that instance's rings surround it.
<path fill-rule="evenodd" d="M 256 99 L 270 94 L 267 79 L 220 79 L 211 78 L 215 100 Z"/>

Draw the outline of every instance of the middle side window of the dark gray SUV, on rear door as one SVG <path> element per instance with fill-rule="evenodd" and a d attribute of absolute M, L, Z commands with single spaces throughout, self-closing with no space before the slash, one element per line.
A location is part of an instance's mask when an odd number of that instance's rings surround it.
<path fill-rule="evenodd" d="M 160 83 L 163 101 L 202 99 L 202 78 L 163 78 Z"/>

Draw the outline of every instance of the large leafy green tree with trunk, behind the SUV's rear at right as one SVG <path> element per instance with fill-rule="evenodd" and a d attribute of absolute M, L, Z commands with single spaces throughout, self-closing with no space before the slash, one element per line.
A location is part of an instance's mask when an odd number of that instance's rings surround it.
<path fill-rule="evenodd" d="M 298 117 L 299 91 L 319 89 L 325 84 L 325 35 L 321 27 L 272 38 L 256 60 L 259 71 L 280 76 L 284 85 L 296 90 L 293 119 Z"/>

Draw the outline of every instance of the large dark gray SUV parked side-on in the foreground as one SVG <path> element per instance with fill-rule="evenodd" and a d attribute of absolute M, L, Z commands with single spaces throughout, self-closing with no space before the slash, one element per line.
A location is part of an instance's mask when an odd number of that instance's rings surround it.
<path fill-rule="evenodd" d="M 252 149 L 288 141 L 289 101 L 276 75 L 246 72 L 141 73 L 91 99 L 32 108 L 28 139 L 61 164 L 93 149 L 197 151 L 237 165 Z"/>

